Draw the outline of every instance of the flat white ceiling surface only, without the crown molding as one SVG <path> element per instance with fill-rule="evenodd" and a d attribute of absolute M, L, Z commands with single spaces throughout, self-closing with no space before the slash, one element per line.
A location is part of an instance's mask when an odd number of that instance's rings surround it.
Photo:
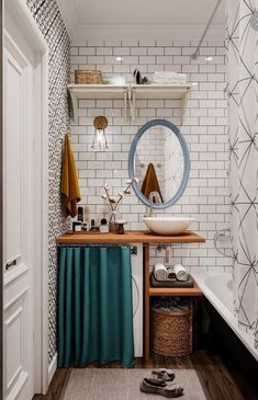
<path fill-rule="evenodd" d="M 64 0 L 67 1 L 67 0 Z M 80 24 L 205 24 L 217 0 L 74 0 Z M 223 7 L 214 20 L 222 23 Z"/>

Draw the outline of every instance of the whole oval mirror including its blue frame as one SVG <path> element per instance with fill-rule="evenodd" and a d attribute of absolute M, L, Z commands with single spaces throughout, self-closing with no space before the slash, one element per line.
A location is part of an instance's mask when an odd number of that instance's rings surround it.
<path fill-rule="evenodd" d="M 149 195 L 157 192 L 164 209 L 183 194 L 190 173 L 187 142 L 176 125 L 166 119 L 154 119 L 143 125 L 132 141 L 128 156 L 130 178 L 136 196 L 150 206 Z"/>

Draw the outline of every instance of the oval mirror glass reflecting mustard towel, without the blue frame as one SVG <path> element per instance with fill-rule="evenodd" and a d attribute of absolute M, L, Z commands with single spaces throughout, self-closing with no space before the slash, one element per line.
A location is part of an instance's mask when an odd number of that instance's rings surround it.
<path fill-rule="evenodd" d="M 148 199 L 152 192 L 158 192 L 161 202 L 168 202 L 179 191 L 183 170 L 183 151 L 175 133 L 162 125 L 149 127 L 135 153 L 135 174 L 143 195 Z"/>

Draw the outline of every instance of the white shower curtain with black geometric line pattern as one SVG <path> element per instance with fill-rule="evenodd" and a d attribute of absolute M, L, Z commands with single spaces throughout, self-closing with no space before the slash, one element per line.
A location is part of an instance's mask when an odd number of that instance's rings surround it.
<path fill-rule="evenodd" d="M 258 0 L 227 0 L 229 185 L 234 308 L 258 347 Z"/>

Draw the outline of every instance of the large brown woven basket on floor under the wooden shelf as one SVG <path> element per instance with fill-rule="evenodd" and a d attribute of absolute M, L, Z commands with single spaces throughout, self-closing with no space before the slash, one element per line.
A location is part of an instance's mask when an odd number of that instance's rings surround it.
<path fill-rule="evenodd" d="M 171 311 L 152 308 L 152 346 L 166 356 L 186 356 L 192 353 L 192 304 L 189 310 Z"/>

